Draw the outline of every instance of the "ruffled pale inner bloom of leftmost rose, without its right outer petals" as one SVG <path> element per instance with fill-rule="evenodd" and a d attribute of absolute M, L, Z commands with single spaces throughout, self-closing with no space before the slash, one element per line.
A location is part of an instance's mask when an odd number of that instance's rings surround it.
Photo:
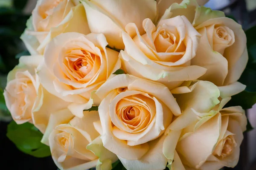
<path fill-rule="evenodd" d="M 36 67 L 41 61 L 42 56 L 22 56 L 19 64 L 7 76 L 3 95 L 6 106 L 17 124 L 32 122 L 32 108 L 40 86 Z"/>

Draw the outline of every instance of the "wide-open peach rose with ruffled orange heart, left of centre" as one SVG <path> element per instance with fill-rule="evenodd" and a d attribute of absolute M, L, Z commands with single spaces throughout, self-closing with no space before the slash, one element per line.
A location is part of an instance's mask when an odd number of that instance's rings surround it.
<path fill-rule="evenodd" d="M 44 62 L 38 75 L 49 93 L 71 102 L 68 106 L 82 117 L 97 90 L 114 71 L 121 67 L 118 52 L 106 48 L 103 34 L 64 33 L 55 37 L 44 51 Z"/>

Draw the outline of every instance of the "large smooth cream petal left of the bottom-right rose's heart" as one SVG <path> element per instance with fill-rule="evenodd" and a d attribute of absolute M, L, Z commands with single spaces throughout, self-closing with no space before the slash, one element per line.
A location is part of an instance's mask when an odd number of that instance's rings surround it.
<path fill-rule="evenodd" d="M 187 165 L 199 168 L 211 155 L 221 129 L 221 115 L 217 114 L 194 133 L 177 143 L 177 153 L 185 157 Z M 183 160 L 181 158 L 181 160 Z"/>

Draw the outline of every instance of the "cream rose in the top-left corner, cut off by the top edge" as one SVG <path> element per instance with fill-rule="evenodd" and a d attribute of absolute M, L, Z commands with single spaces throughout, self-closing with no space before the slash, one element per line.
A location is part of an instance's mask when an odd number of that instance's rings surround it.
<path fill-rule="evenodd" d="M 65 32 L 90 33 L 79 0 L 38 0 L 21 39 L 30 54 L 43 54 L 47 43 Z"/>

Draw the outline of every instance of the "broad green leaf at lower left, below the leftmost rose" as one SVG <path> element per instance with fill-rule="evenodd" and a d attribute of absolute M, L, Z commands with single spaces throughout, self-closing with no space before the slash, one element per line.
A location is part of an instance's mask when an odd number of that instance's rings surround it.
<path fill-rule="evenodd" d="M 51 155 L 49 146 L 41 143 L 43 134 L 28 122 L 17 125 L 12 121 L 7 127 L 6 136 L 24 153 L 38 158 Z"/>

